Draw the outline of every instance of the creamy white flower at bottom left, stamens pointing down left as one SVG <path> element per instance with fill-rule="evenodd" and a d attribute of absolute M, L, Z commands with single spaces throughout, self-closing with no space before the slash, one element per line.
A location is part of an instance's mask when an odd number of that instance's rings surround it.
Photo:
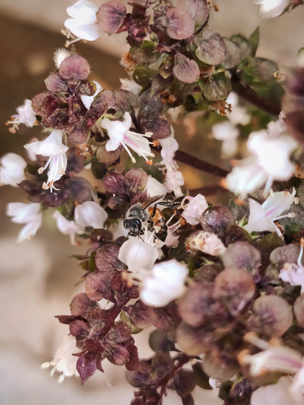
<path fill-rule="evenodd" d="M 55 371 L 58 371 L 60 374 L 58 382 L 62 383 L 64 377 L 71 377 L 76 375 L 79 377 L 76 365 L 78 356 L 73 356 L 79 352 L 79 349 L 76 347 L 76 339 L 72 335 L 67 335 L 64 337 L 62 344 L 56 350 L 54 360 L 47 361 L 41 364 L 42 369 L 47 369 L 50 366 L 53 366 L 51 369 L 51 377 L 53 377 Z"/>

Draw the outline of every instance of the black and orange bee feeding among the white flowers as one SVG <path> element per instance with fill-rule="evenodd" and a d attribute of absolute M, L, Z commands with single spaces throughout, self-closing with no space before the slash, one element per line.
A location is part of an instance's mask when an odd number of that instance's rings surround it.
<path fill-rule="evenodd" d="M 142 235 L 144 233 L 144 226 L 148 224 L 148 229 L 155 230 L 155 236 L 160 241 L 165 241 L 167 237 L 167 224 L 163 213 L 159 208 L 157 208 L 157 205 L 165 205 L 169 208 L 177 208 L 180 206 L 180 203 L 165 200 L 156 203 L 154 207 L 149 207 L 163 197 L 164 195 L 148 198 L 148 200 L 144 201 L 143 203 L 137 203 L 128 209 L 126 212 L 126 218 L 124 220 L 124 227 L 129 231 L 128 235 Z"/>

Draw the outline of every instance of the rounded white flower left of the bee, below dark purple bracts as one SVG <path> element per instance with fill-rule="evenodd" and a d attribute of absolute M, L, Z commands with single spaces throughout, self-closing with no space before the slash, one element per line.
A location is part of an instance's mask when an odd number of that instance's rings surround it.
<path fill-rule="evenodd" d="M 86 201 L 75 207 L 74 219 L 75 224 L 81 228 L 91 226 L 94 229 L 101 229 L 104 227 L 105 220 L 108 214 L 105 209 L 95 201 Z"/>

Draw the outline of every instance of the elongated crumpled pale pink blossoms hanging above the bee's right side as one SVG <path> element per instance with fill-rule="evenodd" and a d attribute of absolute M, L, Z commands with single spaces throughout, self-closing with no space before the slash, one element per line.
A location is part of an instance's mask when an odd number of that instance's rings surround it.
<path fill-rule="evenodd" d="M 178 150 L 178 143 L 171 136 L 161 139 L 159 142 L 162 147 L 161 157 L 163 158 L 161 164 L 164 164 L 167 169 L 164 183 L 165 188 L 169 193 L 174 192 L 174 195 L 178 198 L 183 195 L 181 186 L 184 185 L 184 177 L 182 172 L 177 170 L 178 165 L 174 160 L 174 154 Z"/>

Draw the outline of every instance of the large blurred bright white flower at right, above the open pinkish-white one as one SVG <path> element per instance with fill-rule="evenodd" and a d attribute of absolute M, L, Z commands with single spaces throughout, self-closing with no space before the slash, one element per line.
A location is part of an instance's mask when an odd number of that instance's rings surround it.
<path fill-rule="evenodd" d="M 269 123 L 268 131 L 252 132 L 247 141 L 252 155 L 240 160 L 222 181 L 223 187 L 245 198 L 266 183 L 265 194 L 268 194 L 273 181 L 288 180 L 295 171 L 290 154 L 297 145 L 287 134 L 282 116 Z"/>

